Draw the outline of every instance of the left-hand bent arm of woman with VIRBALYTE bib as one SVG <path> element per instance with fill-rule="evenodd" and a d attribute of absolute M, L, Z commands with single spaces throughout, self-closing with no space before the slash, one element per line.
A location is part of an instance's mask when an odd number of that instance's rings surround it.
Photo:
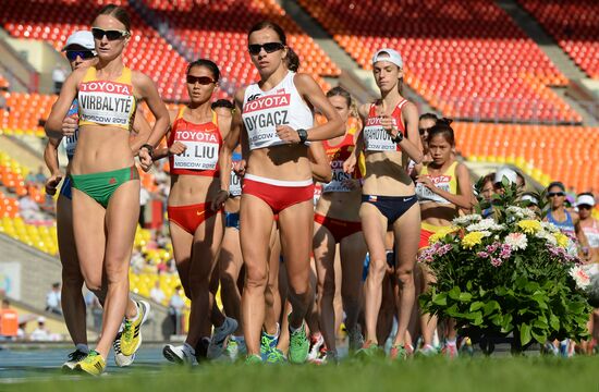
<path fill-rule="evenodd" d="M 52 105 L 52 110 L 50 111 L 50 115 L 48 117 L 48 120 L 46 121 L 46 125 L 44 126 L 44 130 L 46 131 L 46 135 L 50 138 L 59 138 L 62 136 L 70 136 L 73 135 L 75 132 L 75 128 L 69 128 L 69 131 L 63 131 L 62 122 L 66 114 L 69 113 L 69 109 L 71 108 L 71 105 L 73 105 L 73 99 L 77 95 L 77 86 L 83 78 L 83 75 L 87 69 L 80 69 L 73 71 L 71 75 L 64 81 L 64 84 L 62 85 L 62 88 L 60 89 L 60 95 L 58 97 L 58 100 Z"/>

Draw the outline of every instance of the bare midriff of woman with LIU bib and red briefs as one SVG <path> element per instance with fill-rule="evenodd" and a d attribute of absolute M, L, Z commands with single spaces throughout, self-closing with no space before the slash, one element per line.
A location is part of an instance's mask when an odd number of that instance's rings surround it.
<path fill-rule="evenodd" d="M 171 175 L 169 206 L 190 206 L 212 201 L 220 189 L 218 177 L 206 175 Z"/>

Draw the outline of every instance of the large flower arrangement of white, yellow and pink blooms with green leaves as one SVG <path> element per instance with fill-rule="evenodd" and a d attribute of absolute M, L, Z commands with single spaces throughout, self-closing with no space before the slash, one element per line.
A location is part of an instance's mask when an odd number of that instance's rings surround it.
<path fill-rule="evenodd" d="M 535 341 L 586 338 L 590 275 L 576 269 L 572 240 L 518 201 L 515 186 L 504 186 L 492 218 L 460 217 L 431 236 L 418 261 L 437 283 L 420 296 L 421 307 L 453 318 L 473 341 L 512 333 L 514 352 Z"/>

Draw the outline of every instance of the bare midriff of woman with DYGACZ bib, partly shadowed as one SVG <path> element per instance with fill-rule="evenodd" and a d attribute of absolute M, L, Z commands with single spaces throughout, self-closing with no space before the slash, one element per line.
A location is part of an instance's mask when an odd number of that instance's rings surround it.
<path fill-rule="evenodd" d="M 249 154 L 246 172 L 271 180 L 306 181 L 311 179 L 308 149 L 300 145 L 255 149 Z"/>

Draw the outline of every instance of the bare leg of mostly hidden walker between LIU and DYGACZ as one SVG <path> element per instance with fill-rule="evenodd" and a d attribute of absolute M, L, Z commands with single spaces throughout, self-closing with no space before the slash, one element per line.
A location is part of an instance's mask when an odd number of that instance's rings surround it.
<path fill-rule="evenodd" d="M 242 265 L 240 231 L 235 228 L 227 228 L 219 254 L 220 295 L 227 316 L 239 321 L 237 331 L 235 331 L 237 336 L 243 334 L 241 322 L 242 296 L 237 287 Z"/>

